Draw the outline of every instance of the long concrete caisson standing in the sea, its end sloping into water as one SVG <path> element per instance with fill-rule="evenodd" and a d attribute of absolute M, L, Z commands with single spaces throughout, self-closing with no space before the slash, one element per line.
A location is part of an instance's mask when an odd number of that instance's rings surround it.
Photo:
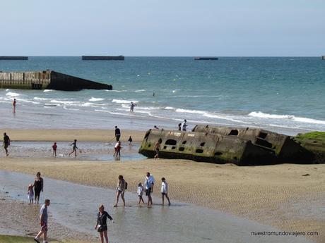
<path fill-rule="evenodd" d="M 81 89 L 112 89 L 112 85 L 93 82 L 52 70 L 32 72 L 0 71 L 0 88 L 78 91 Z"/>

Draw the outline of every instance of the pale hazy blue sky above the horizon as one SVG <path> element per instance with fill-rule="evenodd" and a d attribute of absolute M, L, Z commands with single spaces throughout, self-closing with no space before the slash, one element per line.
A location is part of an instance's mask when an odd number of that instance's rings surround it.
<path fill-rule="evenodd" d="M 324 0 L 0 0 L 0 9 L 0 55 L 325 55 Z"/>

